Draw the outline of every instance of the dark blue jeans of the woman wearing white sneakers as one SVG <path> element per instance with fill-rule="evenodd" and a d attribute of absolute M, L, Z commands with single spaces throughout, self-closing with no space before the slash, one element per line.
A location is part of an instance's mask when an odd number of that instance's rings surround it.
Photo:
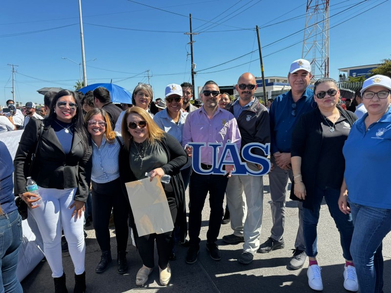
<path fill-rule="evenodd" d="M 344 214 L 339 210 L 338 198 L 340 195 L 339 189 L 334 188 L 315 188 L 315 194 L 313 194 L 313 210 L 304 209 L 304 242 L 305 253 L 309 257 L 315 257 L 318 254 L 317 250 L 317 225 L 319 221 L 319 210 L 321 208 L 323 197 L 326 199 L 326 204 L 331 217 L 334 219 L 335 225 L 338 228 L 340 234 L 340 242 L 343 251 L 343 256 L 346 260 L 352 260 L 350 255 L 351 238 L 353 235 L 353 222 L 351 215 Z"/>

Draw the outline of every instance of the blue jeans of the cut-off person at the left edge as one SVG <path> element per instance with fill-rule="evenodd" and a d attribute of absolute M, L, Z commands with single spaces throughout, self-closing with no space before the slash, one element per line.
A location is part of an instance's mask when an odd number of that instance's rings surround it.
<path fill-rule="evenodd" d="M 0 216 L 0 292 L 22 293 L 16 277 L 19 246 L 22 243 L 22 218 L 18 210 Z M 4 291 L 3 291 L 4 290 Z"/>

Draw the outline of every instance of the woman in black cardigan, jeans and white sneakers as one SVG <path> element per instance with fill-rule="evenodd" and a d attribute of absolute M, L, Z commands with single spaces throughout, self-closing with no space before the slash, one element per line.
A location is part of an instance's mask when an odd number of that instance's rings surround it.
<path fill-rule="evenodd" d="M 315 82 L 314 102 L 318 107 L 303 114 L 292 133 L 291 162 L 294 183 L 291 198 L 303 201 L 303 232 L 305 252 L 309 258 L 309 287 L 323 290 L 320 267 L 316 260 L 316 229 L 322 200 L 325 198 L 331 217 L 340 232 L 346 260 L 344 271 L 341 270 L 344 274 L 344 287 L 356 292 L 357 277 L 350 255 L 353 223 L 350 215 L 343 214 L 338 209 L 338 198 L 345 170 L 342 148 L 357 117 L 337 105 L 339 96 L 337 84 L 333 79 L 322 78 Z"/>

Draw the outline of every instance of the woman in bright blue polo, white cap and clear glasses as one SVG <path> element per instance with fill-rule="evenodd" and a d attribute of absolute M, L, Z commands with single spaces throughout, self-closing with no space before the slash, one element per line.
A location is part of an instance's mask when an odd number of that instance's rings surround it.
<path fill-rule="evenodd" d="M 379 293 L 383 292 L 383 239 L 391 231 L 391 79 L 372 76 L 361 94 L 368 112 L 353 125 L 345 142 L 345 180 L 338 204 L 353 218 L 350 252 L 360 292 Z"/>

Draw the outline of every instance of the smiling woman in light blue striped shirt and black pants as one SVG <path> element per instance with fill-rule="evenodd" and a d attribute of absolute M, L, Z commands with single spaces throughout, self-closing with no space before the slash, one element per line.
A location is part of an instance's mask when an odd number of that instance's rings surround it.
<path fill-rule="evenodd" d="M 112 209 L 118 272 L 124 274 L 128 271 L 129 206 L 119 179 L 118 155 L 122 138 L 111 129 L 109 115 L 104 109 L 88 111 L 85 121 L 92 144 L 92 221 L 102 251 L 95 272 L 105 272 L 111 262 L 109 220 Z"/>

